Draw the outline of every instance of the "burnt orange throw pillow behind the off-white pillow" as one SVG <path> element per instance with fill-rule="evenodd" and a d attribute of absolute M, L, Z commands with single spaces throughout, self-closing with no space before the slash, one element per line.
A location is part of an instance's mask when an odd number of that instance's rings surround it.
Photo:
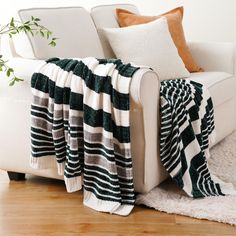
<path fill-rule="evenodd" d="M 189 72 L 203 71 L 203 69 L 200 68 L 193 60 L 185 40 L 182 26 L 183 11 L 183 7 L 178 7 L 159 16 L 140 16 L 130 11 L 118 8 L 116 9 L 116 14 L 120 27 L 144 24 L 165 16 L 167 18 L 171 37 L 187 70 Z"/>

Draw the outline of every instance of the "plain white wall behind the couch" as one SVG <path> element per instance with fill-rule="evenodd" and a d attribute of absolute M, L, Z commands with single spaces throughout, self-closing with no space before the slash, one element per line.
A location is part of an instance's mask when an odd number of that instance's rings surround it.
<path fill-rule="evenodd" d="M 0 23 L 17 10 L 29 7 L 84 6 L 134 3 L 141 13 L 155 15 L 183 5 L 184 29 L 188 41 L 236 42 L 236 0 L 1 0 Z"/>

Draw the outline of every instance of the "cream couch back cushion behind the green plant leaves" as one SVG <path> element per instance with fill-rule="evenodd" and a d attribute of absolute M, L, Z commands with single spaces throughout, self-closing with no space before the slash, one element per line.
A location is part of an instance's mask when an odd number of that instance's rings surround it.
<path fill-rule="evenodd" d="M 45 38 L 27 35 L 33 51 L 31 53 L 28 51 L 29 56 L 33 54 L 37 59 L 104 57 L 93 20 L 84 8 L 31 8 L 20 10 L 18 14 L 23 22 L 30 20 L 31 16 L 40 18 L 40 24 L 50 29 L 53 37 L 58 38 L 56 47 L 50 47 L 48 46 L 49 41 Z M 16 52 L 19 54 L 17 48 Z M 25 56 L 23 55 L 23 57 Z"/>

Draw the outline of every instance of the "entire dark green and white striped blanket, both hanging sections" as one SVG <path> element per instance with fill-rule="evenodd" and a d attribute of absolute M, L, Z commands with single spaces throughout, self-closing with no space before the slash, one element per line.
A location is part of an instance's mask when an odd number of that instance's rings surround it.
<path fill-rule="evenodd" d="M 128 215 L 135 203 L 129 86 L 138 70 L 120 60 L 53 58 L 31 79 L 31 166 L 57 168 L 68 192 L 84 187 L 84 204 Z M 214 141 L 210 95 L 189 80 L 162 81 L 160 154 L 193 197 L 232 193 L 207 167 Z"/>

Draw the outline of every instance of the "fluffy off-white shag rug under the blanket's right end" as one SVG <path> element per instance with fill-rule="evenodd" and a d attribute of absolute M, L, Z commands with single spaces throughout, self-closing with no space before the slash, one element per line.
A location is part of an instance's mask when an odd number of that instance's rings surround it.
<path fill-rule="evenodd" d="M 213 147 L 210 153 L 210 171 L 223 181 L 231 182 L 236 189 L 236 132 Z M 236 196 L 192 199 L 171 180 L 147 194 L 138 195 L 136 204 L 167 213 L 236 225 Z"/>

